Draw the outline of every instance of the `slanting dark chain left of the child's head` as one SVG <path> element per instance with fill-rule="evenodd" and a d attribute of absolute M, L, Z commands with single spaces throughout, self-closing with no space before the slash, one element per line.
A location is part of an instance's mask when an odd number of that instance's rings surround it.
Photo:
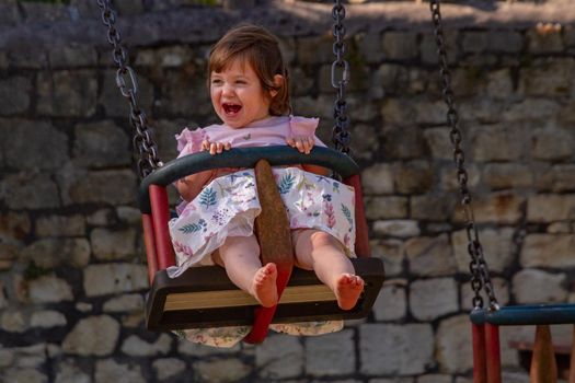
<path fill-rule="evenodd" d="M 140 177 L 146 177 L 154 169 L 162 166 L 162 162 L 158 156 L 158 147 L 150 134 L 146 114 L 138 106 L 136 100 L 138 82 L 134 70 L 126 63 L 128 54 L 122 45 L 119 31 L 115 26 L 116 12 L 111 5 L 111 0 L 96 0 L 96 2 L 102 10 L 102 22 L 107 26 L 107 40 L 110 45 L 114 47 L 112 49 L 112 57 L 118 66 L 118 70 L 116 71 L 116 85 L 129 103 L 129 121 L 136 129 L 133 142 L 134 150 L 139 154 L 138 172 Z"/>

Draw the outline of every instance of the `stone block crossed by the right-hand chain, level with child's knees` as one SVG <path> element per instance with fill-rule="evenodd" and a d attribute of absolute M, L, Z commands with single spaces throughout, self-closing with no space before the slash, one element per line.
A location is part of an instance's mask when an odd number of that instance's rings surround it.
<path fill-rule="evenodd" d="M 515 259 L 515 230 L 511 228 L 483 229 L 479 232 L 483 256 L 490 270 L 503 272 Z M 469 272 L 471 257 L 468 253 L 468 236 L 465 230 L 459 230 L 451 235 L 453 254 L 460 272 Z"/>

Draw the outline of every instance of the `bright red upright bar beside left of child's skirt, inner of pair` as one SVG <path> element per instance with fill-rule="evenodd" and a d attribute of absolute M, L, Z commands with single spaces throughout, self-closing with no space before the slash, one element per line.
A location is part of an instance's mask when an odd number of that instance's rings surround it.
<path fill-rule="evenodd" d="M 165 187 L 158 185 L 150 185 L 149 190 L 158 268 L 163 270 L 175 265 L 174 248 L 168 231 L 168 220 L 170 219 L 168 193 Z"/>

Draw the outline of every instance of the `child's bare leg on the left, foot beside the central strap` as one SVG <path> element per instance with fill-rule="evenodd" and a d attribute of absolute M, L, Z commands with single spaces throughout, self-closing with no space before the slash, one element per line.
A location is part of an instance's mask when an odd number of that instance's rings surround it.
<path fill-rule="evenodd" d="M 214 254 L 216 264 L 223 266 L 231 281 L 253 295 L 264 307 L 277 303 L 277 268 L 262 266 L 260 245 L 254 235 L 229 236 Z"/>

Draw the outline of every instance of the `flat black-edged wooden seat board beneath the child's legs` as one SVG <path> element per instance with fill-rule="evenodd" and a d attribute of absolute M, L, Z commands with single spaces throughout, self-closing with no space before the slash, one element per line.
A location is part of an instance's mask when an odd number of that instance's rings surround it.
<path fill-rule="evenodd" d="M 295 268 L 284 290 L 272 323 L 356 320 L 369 314 L 381 289 L 381 259 L 352 259 L 356 274 L 366 282 L 356 306 L 343 311 L 332 291 L 313 271 Z M 249 326 L 257 302 L 239 290 L 219 266 L 192 267 L 177 278 L 165 270 L 153 279 L 146 305 L 150 330 Z"/>

